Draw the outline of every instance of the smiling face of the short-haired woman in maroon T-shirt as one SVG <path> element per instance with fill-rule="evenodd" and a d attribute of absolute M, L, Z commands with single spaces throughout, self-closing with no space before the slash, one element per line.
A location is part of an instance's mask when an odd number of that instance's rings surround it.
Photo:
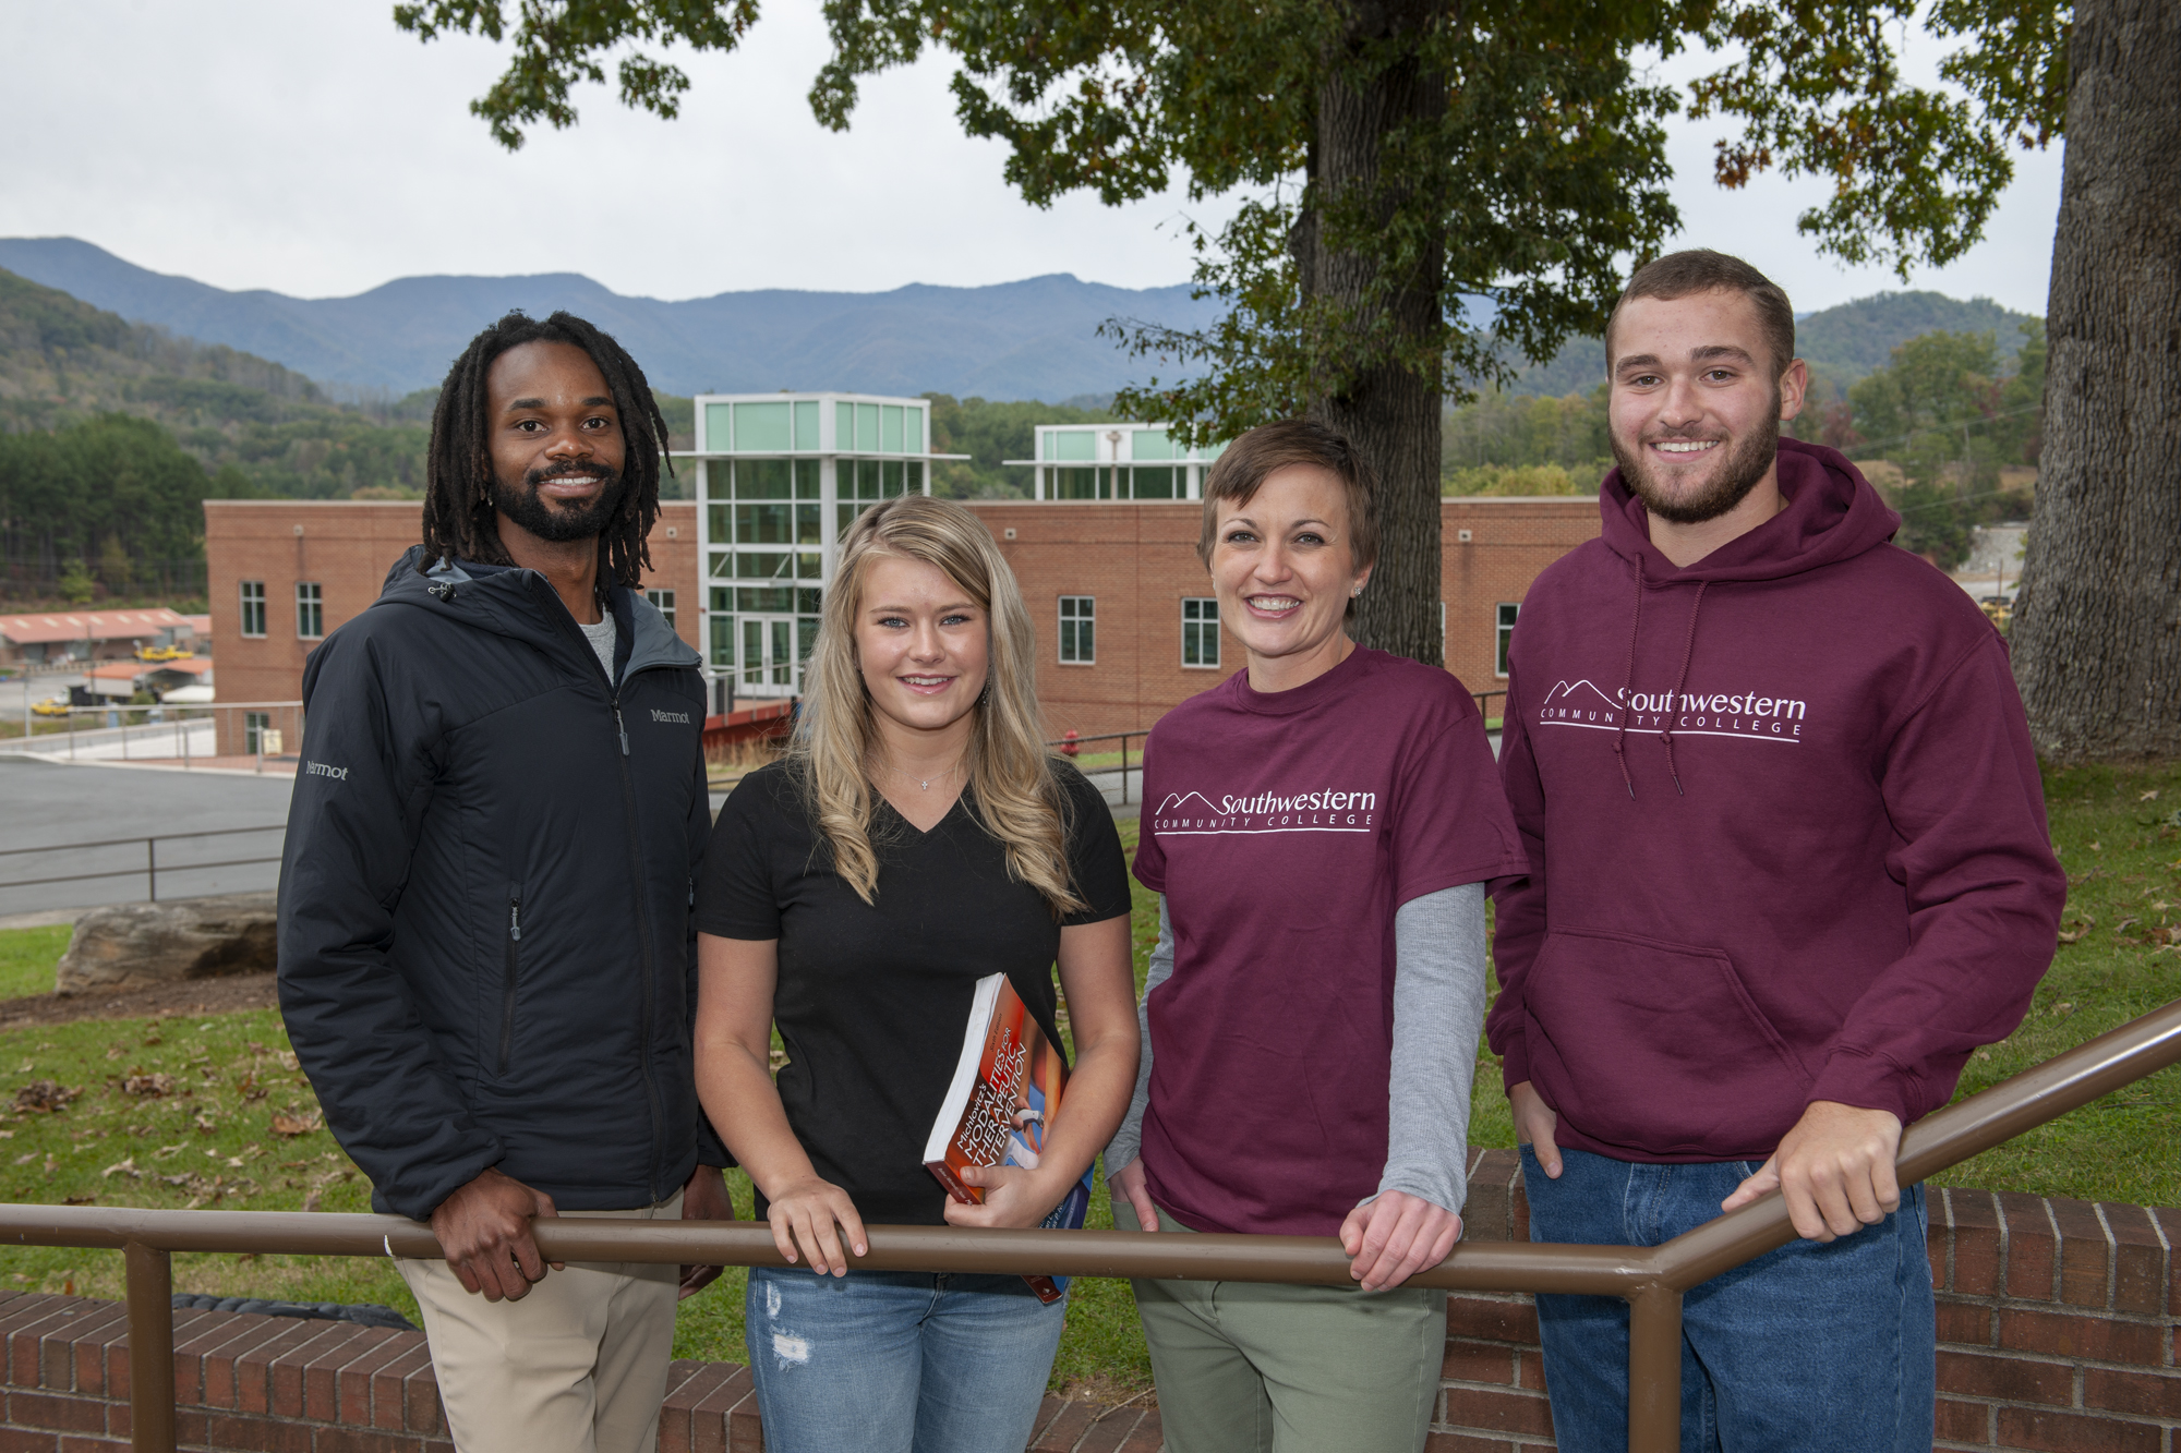
<path fill-rule="evenodd" d="M 1370 580 L 1348 541 L 1341 478 L 1320 465 L 1287 465 L 1267 473 L 1248 504 L 1217 504 L 1213 591 L 1219 624 L 1250 655 L 1250 685 L 1285 689 L 1337 665 L 1348 600 Z"/>

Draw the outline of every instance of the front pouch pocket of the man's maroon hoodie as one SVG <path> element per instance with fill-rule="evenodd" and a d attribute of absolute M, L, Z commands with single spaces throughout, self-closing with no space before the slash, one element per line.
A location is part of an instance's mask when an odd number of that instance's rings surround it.
<path fill-rule="evenodd" d="M 1557 929 L 1522 1001 L 1540 1091 L 1607 1145 L 1751 1156 L 1815 1084 L 1721 949 Z"/>

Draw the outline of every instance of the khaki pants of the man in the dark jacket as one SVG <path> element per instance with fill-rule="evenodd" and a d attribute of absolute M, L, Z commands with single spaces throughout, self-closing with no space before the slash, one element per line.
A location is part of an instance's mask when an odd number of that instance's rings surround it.
<path fill-rule="evenodd" d="M 680 1193 L 637 1211 L 678 1220 Z M 395 1261 L 423 1309 L 460 1453 L 652 1453 L 674 1353 L 680 1272 L 571 1261 L 515 1302 L 465 1292 L 445 1261 Z"/>

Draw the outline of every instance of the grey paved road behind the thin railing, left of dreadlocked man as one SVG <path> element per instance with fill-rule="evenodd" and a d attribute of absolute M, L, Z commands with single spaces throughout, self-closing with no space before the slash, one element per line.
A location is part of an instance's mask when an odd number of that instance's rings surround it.
<path fill-rule="evenodd" d="M 0 888 L 0 916 L 44 908 L 89 908 L 144 901 L 142 838 L 220 827 L 264 827 L 288 820 L 290 777 L 225 777 L 142 772 L 98 766 L 55 766 L 0 757 L 0 849 L 65 849 L 72 842 L 137 838 L 133 846 L 15 853 L 0 857 L 0 884 L 65 873 L 129 868 L 39 888 Z M 159 897 L 251 892 L 279 881 L 277 864 L 181 870 L 190 862 L 277 857 L 279 833 L 196 838 L 159 844 Z M 172 868 L 172 873 L 170 873 Z"/>

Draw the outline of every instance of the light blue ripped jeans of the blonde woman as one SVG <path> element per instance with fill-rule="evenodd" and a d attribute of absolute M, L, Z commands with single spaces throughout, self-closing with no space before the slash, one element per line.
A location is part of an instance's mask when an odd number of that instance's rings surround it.
<path fill-rule="evenodd" d="M 750 1268 L 766 1453 L 1023 1453 L 1067 1305 L 1021 1276 Z"/>

